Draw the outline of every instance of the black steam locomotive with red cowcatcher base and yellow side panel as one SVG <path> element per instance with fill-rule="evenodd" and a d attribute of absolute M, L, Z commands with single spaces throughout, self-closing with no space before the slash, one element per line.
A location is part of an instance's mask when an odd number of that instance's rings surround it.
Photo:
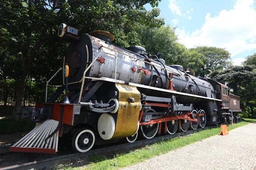
<path fill-rule="evenodd" d="M 138 134 L 151 139 L 241 119 L 233 116 L 241 112 L 239 96 L 228 96 L 227 86 L 166 65 L 160 54 L 113 45 L 107 31 L 78 34 L 62 23 L 58 35 L 70 42 L 62 85 L 46 102 L 23 110 L 37 125 L 11 151 L 56 153 L 58 137 L 69 134 L 74 150 L 87 152 L 94 144 L 134 142 Z"/>

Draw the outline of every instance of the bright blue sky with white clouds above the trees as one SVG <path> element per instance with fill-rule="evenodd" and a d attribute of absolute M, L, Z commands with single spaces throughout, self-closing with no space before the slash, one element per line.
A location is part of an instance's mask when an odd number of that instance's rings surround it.
<path fill-rule="evenodd" d="M 234 65 L 256 53 L 256 0 L 162 0 L 157 8 L 187 48 L 225 48 Z"/>

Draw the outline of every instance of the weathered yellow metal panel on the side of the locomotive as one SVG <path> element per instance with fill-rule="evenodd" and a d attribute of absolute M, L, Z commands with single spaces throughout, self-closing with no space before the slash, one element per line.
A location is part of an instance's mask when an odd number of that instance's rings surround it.
<path fill-rule="evenodd" d="M 133 135 L 137 130 L 140 115 L 140 92 L 135 86 L 116 83 L 119 91 L 119 110 L 117 112 L 116 130 L 112 139 Z M 129 97 L 135 102 L 128 102 Z"/>

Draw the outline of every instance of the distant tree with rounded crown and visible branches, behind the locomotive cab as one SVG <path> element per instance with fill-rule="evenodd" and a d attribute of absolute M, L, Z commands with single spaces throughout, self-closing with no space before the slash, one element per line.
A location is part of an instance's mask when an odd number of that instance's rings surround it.
<path fill-rule="evenodd" d="M 200 77 L 205 77 L 212 71 L 222 70 L 231 65 L 230 53 L 224 48 L 198 46 L 191 48 L 190 51 L 197 52 L 201 58 L 201 65 L 196 72 L 196 75 Z"/>

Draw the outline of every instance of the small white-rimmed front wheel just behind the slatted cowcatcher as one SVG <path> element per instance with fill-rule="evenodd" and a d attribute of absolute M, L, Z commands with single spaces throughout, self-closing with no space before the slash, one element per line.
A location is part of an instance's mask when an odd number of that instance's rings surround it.
<path fill-rule="evenodd" d="M 93 147 L 95 135 L 92 130 L 82 128 L 72 138 L 72 146 L 77 152 L 87 152 Z"/>

